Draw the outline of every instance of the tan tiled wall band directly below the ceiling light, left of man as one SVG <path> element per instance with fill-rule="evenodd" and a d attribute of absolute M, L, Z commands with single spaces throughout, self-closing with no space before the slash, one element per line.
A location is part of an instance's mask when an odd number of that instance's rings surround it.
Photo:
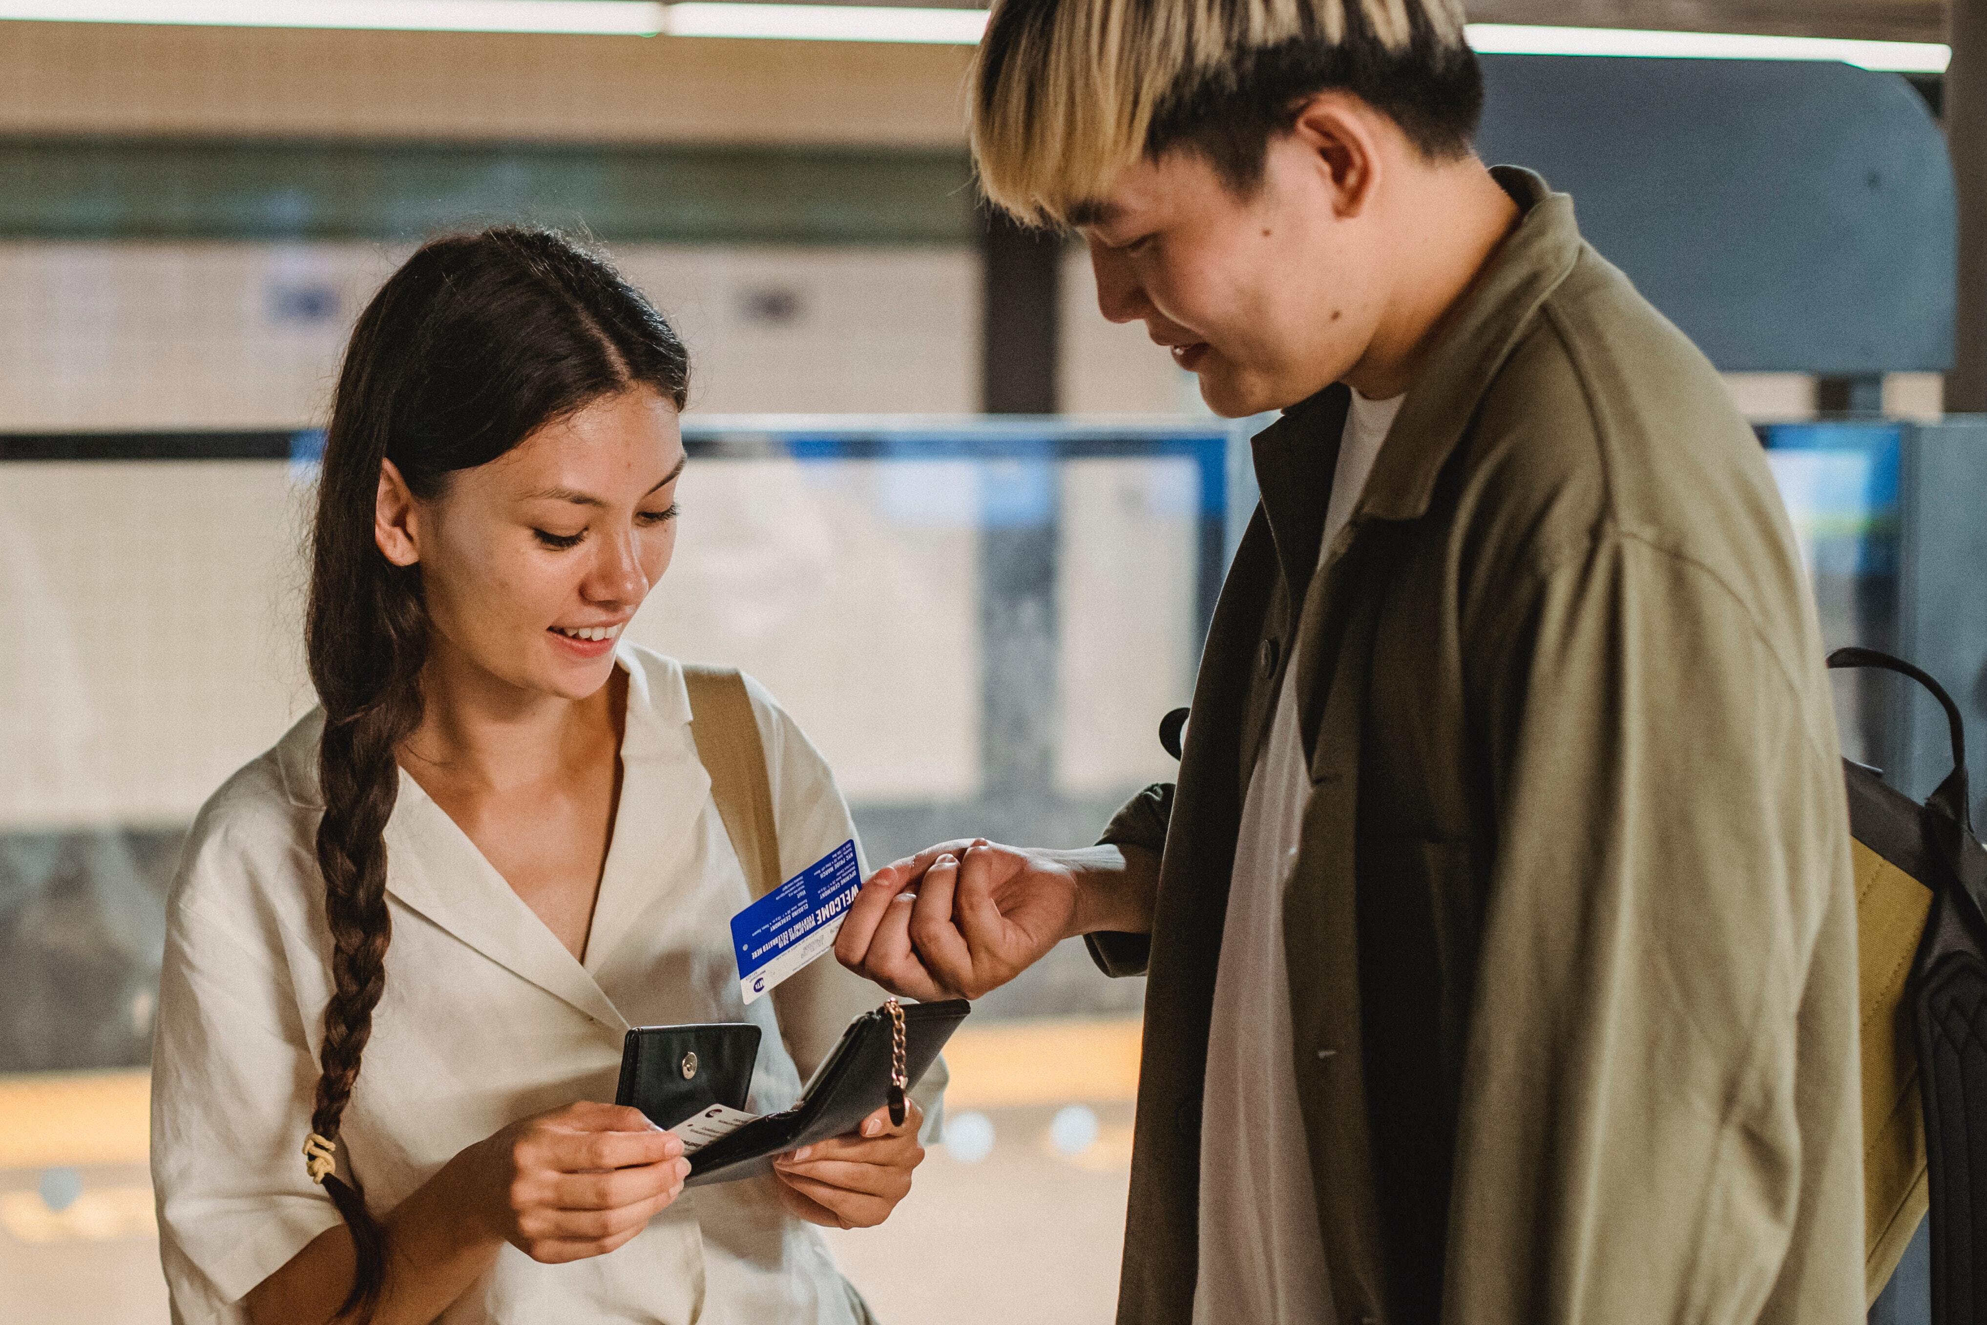
<path fill-rule="evenodd" d="M 0 133 L 956 145 L 970 58 L 890 42 L 0 22 Z"/>

